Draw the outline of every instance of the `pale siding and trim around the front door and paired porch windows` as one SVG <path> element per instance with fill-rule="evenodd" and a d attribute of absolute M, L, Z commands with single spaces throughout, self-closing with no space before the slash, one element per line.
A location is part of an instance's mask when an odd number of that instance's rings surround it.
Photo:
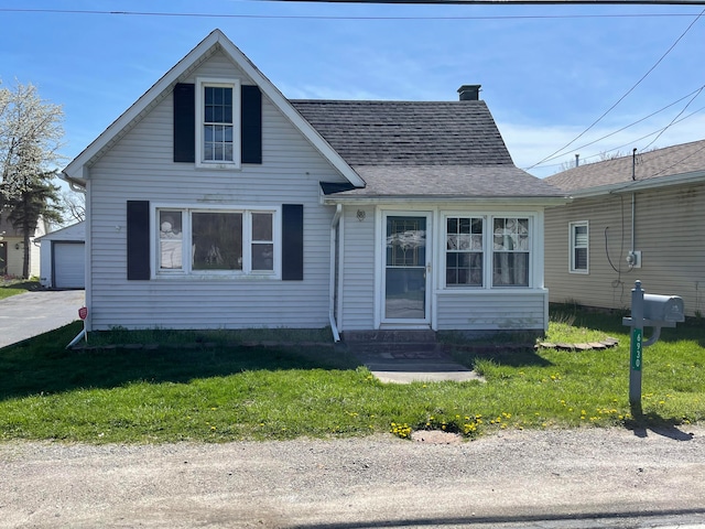
<path fill-rule="evenodd" d="M 381 210 L 394 212 L 393 207 L 378 206 Z M 543 289 L 543 216 L 541 212 L 524 212 L 517 214 L 509 208 L 480 210 L 468 208 L 463 212 L 455 206 L 438 204 L 419 205 L 417 209 L 434 212 L 433 244 L 429 251 L 433 259 L 432 270 L 434 288 L 429 295 L 432 298 L 432 328 L 438 331 L 510 331 L 535 330 L 543 331 L 547 325 L 549 293 Z M 451 208 L 453 207 L 453 208 Z M 358 210 L 365 215 L 358 215 Z M 530 218 L 531 237 L 529 242 L 530 284 L 532 287 L 490 288 L 489 279 L 485 288 L 447 288 L 446 287 L 446 219 L 449 217 L 481 217 L 487 225 L 494 217 Z M 379 289 L 381 280 L 376 278 L 375 270 L 381 269 L 377 262 L 381 256 L 375 253 L 379 246 L 379 233 L 375 231 L 375 208 L 346 206 L 344 209 L 344 242 L 345 253 L 341 264 L 341 317 L 338 321 L 340 331 L 359 331 L 377 328 L 380 325 Z M 381 229 L 381 228 L 380 228 Z M 488 238 L 492 239 L 491 235 Z M 491 242 L 490 242 L 491 244 Z M 488 251 L 491 255 L 491 251 Z M 486 259 L 487 261 L 487 259 Z M 433 272 L 432 272 L 433 273 Z M 486 278 L 488 272 L 485 273 Z M 375 321 L 375 315 L 378 321 Z M 382 324 L 383 325 L 383 324 Z M 387 325 L 389 326 L 389 325 Z M 403 324 L 400 324 L 403 328 Z"/>

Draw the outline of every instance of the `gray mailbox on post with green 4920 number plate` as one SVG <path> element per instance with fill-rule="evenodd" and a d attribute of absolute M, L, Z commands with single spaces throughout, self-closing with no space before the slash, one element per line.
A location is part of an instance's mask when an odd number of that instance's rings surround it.
<path fill-rule="evenodd" d="M 641 366 L 642 349 L 653 345 L 661 336 L 661 327 L 675 327 L 685 321 L 683 300 L 677 295 L 647 294 L 641 290 L 641 281 L 634 282 L 631 291 L 631 317 L 622 319 L 622 325 L 631 327 L 629 363 L 629 403 L 641 410 Z M 643 339 L 643 327 L 652 327 L 653 334 Z"/>

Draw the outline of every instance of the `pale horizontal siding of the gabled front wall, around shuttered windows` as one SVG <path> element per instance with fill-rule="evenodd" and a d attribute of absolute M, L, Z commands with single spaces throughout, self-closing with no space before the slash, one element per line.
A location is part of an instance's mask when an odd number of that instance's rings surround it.
<path fill-rule="evenodd" d="M 195 76 L 240 78 L 216 53 Z M 199 170 L 172 160 L 172 97 L 159 102 L 90 168 L 90 322 L 93 330 L 321 328 L 329 324 L 329 237 L 334 207 L 319 204 L 319 182 L 341 181 L 268 98 L 262 98 L 263 163 L 241 171 Z M 304 280 L 202 277 L 127 280 L 127 201 L 218 208 L 304 206 Z M 280 217 L 281 218 L 281 217 Z M 155 237 L 155 236 L 154 236 Z M 152 247 L 154 247 L 152 238 Z M 154 250 L 153 250 L 154 251 Z M 152 264 L 152 271 L 154 271 Z"/>

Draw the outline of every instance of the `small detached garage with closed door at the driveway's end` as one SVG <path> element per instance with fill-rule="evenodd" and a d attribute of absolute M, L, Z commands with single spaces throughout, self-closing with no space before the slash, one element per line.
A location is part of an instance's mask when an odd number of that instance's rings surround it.
<path fill-rule="evenodd" d="M 83 289 L 86 285 L 86 223 L 66 226 L 37 240 L 42 248 L 42 287 Z"/>

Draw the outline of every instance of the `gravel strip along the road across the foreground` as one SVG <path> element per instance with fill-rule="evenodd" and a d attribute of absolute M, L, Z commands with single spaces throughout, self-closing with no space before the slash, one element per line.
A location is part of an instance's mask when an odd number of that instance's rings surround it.
<path fill-rule="evenodd" d="M 0 527 L 705 527 L 703 427 L 422 438 L 0 443 Z"/>

